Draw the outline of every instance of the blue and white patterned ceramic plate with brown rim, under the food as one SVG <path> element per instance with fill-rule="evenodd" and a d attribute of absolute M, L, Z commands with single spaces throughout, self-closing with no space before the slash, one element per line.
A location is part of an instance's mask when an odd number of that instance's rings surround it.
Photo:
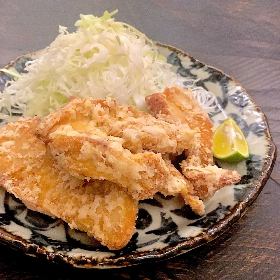
<path fill-rule="evenodd" d="M 209 112 L 215 128 L 234 118 L 246 136 L 251 155 L 237 165 L 216 162 L 242 175 L 236 185 L 226 186 L 205 203 L 204 216 L 196 216 L 180 197 L 156 195 L 139 204 L 136 232 L 125 248 L 110 251 L 60 219 L 27 209 L 0 187 L 0 242 L 33 256 L 44 255 L 74 267 L 112 268 L 162 260 L 187 252 L 213 240 L 233 225 L 256 199 L 272 171 L 276 146 L 265 115 L 231 77 L 190 57 L 176 48 L 157 43 L 160 54 L 181 76 L 200 78 L 202 86 L 216 95 L 219 106 Z M 24 72 L 27 60 L 36 53 L 17 58 L 5 68 Z M 0 90 L 12 77 L 0 73 Z"/>

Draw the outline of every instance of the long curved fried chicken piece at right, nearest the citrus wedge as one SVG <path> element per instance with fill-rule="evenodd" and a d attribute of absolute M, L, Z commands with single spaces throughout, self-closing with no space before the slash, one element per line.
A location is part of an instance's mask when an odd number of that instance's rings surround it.
<path fill-rule="evenodd" d="M 236 171 L 211 165 L 213 123 L 195 101 L 192 92 L 175 86 L 166 88 L 163 93 L 147 96 L 145 100 L 156 118 L 170 123 L 187 123 L 190 129 L 199 128 L 196 145 L 188 147 L 185 151 L 187 159 L 181 163 L 183 174 L 192 183 L 195 195 L 203 200 L 209 199 L 218 189 L 240 180 Z"/>

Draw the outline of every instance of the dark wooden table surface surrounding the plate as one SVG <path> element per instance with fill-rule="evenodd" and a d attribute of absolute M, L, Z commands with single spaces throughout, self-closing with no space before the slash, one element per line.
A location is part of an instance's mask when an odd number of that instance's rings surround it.
<path fill-rule="evenodd" d="M 2 0 L 0 67 L 47 46 L 59 24 L 73 31 L 80 13 L 101 15 L 115 8 L 119 9 L 117 20 L 236 78 L 262 107 L 274 142 L 280 144 L 278 0 Z M 58 267 L 0 246 L 0 279 L 280 279 L 279 168 L 277 160 L 265 188 L 238 223 L 215 241 L 184 255 L 93 271 Z"/>

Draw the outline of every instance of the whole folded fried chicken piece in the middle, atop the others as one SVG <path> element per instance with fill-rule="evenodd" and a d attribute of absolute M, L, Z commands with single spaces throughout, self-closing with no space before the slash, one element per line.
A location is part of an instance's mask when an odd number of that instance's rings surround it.
<path fill-rule="evenodd" d="M 169 178 L 160 153 L 182 153 L 196 132 L 111 98 L 76 98 L 44 118 L 36 136 L 71 175 L 113 181 L 146 199 Z"/>

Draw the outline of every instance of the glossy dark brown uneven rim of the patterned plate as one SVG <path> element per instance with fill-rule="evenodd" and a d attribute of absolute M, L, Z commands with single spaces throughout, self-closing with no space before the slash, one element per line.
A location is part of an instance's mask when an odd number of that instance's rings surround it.
<path fill-rule="evenodd" d="M 189 57 L 191 61 L 197 61 L 202 63 L 204 66 L 209 67 L 211 69 L 215 69 L 216 71 L 220 72 L 227 78 L 229 78 L 230 81 L 235 83 L 237 86 L 240 86 L 243 92 L 248 96 L 248 98 L 251 100 L 251 102 L 255 105 L 255 110 L 262 116 L 262 120 L 265 123 L 266 130 L 265 130 L 265 137 L 267 141 L 269 142 L 269 151 L 266 157 L 266 160 L 262 166 L 261 174 L 258 179 L 258 181 L 255 184 L 255 187 L 253 191 L 248 195 L 248 198 L 242 202 L 239 202 L 236 204 L 233 209 L 231 210 L 231 213 L 226 215 L 222 220 L 220 220 L 218 223 L 210 226 L 207 228 L 204 232 L 197 235 L 196 237 L 189 238 L 186 241 L 178 242 L 176 246 L 166 246 L 163 249 L 159 250 L 153 250 L 153 251 L 146 251 L 146 252 L 133 252 L 129 255 L 124 255 L 123 257 L 119 257 L 117 259 L 110 259 L 110 258 L 104 258 L 104 259 L 95 259 L 91 257 L 85 257 L 80 256 L 78 258 L 75 258 L 74 256 L 69 255 L 63 255 L 60 253 L 50 252 L 43 246 L 38 246 L 36 244 L 30 243 L 26 241 L 25 239 L 22 239 L 21 237 L 15 236 L 11 234 L 10 232 L 7 232 L 5 229 L 0 228 L 0 243 L 8 245 L 11 248 L 14 248 L 16 250 L 23 251 L 26 254 L 33 255 L 36 257 L 41 258 L 47 258 L 48 260 L 51 260 L 52 262 L 58 263 L 58 264 L 68 264 L 73 267 L 83 267 L 83 268 L 117 268 L 117 267 L 126 267 L 129 265 L 136 265 L 144 262 L 150 262 L 150 261 L 159 261 L 159 260 L 165 260 L 168 258 L 172 258 L 176 255 L 185 253 L 187 251 L 190 251 L 198 246 L 201 246 L 203 244 L 206 244 L 209 241 L 212 241 L 213 239 L 219 237 L 221 234 L 223 234 L 229 227 L 231 227 L 234 223 L 236 223 L 242 215 L 245 213 L 245 211 L 248 209 L 248 207 L 254 202 L 254 200 L 258 197 L 259 193 L 261 192 L 262 188 L 264 187 L 265 183 L 267 182 L 277 155 L 277 148 L 274 144 L 270 131 L 269 131 L 269 125 L 267 118 L 265 114 L 262 112 L 260 107 L 255 103 L 253 98 L 248 95 L 247 91 L 232 77 L 225 74 L 223 71 L 206 65 L 203 62 L 195 59 L 194 57 L 188 55 L 188 53 L 183 52 L 182 50 L 179 50 L 178 48 L 174 48 L 169 45 L 164 45 L 161 43 L 156 42 L 157 46 L 168 48 L 170 51 L 182 55 L 183 57 Z M 6 65 L 4 68 L 12 67 L 15 63 L 20 60 L 22 57 L 31 56 L 35 53 L 29 53 L 27 55 L 22 55 L 20 57 L 17 57 L 15 60 L 11 61 L 8 65 Z"/>

